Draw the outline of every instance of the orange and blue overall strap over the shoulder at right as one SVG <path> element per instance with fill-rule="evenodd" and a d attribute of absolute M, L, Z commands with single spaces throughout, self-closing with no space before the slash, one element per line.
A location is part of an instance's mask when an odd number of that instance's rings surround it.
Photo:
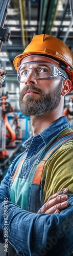
<path fill-rule="evenodd" d="M 50 144 L 48 147 L 46 147 L 45 151 L 50 148 L 50 151 L 47 153 L 47 155 L 41 160 L 41 162 L 38 164 L 36 168 L 36 173 L 34 175 L 33 183 L 34 184 L 40 184 L 41 182 L 41 177 L 42 177 L 42 172 L 44 168 L 45 162 L 51 157 L 52 153 L 54 153 L 57 148 L 59 148 L 62 144 L 64 144 L 66 141 L 73 139 L 73 133 L 67 133 L 62 136 L 60 136 L 58 139 L 56 139 L 52 144 Z"/>

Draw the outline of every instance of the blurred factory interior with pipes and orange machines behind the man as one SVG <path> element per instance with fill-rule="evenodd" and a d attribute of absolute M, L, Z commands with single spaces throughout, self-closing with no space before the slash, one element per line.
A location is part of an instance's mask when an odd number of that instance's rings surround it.
<path fill-rule="evenodd" d="M 0 69 L 7 72 L 0 95 L 0 181 L 16 154 L 24 150 L 22 142 L 32 135 L 30 117 L 19 109 L 13 59 L 41 33 L 58 37 L 73 52 L 72 6 L 72 0 L 0 0 L 0 27 L 4 27 L 0 31 Z M 65 96 L 64 115 L 73 128 L 72 102 L 71 92 Z"/>

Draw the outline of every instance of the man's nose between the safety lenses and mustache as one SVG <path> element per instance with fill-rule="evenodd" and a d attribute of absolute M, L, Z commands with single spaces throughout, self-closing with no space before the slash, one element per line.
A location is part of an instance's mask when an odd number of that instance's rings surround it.
<path fill-rule="evenodd" d="M 36 73 L 32 68 L 28 69 L 25 84 L 27 85 L 27 83 L 37 84 Z"/>

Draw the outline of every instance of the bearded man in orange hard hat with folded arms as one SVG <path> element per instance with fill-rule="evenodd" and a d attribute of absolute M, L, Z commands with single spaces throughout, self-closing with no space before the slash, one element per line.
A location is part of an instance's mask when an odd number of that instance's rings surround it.
<path fill-rule="evenodd" d="M 20 110 L 31 116 L 33 136 L 23 143 L 26 151 L 13 161 L 1 184 L 1 237 L 5 232 L 3 201 L 8 198 L 12 255 L 67 256 L 73 251 L 73 133 L 63 116 L 63 105 L 64 96 L 72 90 L 73 55 L 61 40 L 36 35 L 14 59 L 14 66 Z M 65 201 L 61 208 L 55 193 L 65 187 L 70 194 L 69 199 L 59 197 L 59 202 Z"/>

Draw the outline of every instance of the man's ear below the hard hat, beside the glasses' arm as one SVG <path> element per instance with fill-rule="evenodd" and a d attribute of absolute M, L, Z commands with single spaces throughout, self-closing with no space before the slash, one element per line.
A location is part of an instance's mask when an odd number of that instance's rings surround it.
<path fill-rule="evenodd" d="M 61 95 L 65 96 L 71 89 L 71 81 L 69 79 L 63 80 Z"/>

